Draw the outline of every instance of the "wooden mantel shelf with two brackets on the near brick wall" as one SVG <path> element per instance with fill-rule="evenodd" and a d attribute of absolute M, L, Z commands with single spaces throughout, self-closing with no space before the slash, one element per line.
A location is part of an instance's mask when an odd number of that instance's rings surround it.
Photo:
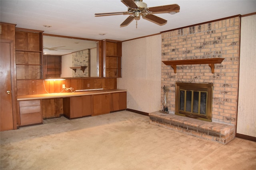
<path fill-rule="evenodd" d="M 189 64 L 208 64 L 214 73 L 214 64 L 222 63 L 223 58 L 214 58 L 214 59 L 194 59 L 194 60 L 174 60 L 174 61 L 162 61 L 165 65 L 171 66 L 176 73 L 177 65 L 189 65 Z"/>

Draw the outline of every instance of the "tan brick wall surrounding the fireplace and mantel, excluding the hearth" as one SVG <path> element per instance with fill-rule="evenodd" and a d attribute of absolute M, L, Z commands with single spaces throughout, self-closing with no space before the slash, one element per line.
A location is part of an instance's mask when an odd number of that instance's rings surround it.
<path fill-rule="evenodd" d="M 170 86 L 168 108 L 175 111 L 175 82 L 213 83 L 212 121 L 236 124 L 240 17 L 162 33 L 162 61 L 224 58 L 211 73 L 208 64 L 179 65 L 174 73 L 162 63 L 161 86 Z M 161 100 L 163 99 L 163 90 Z M 161 106 L 162 108 L 162 106 Z"/>

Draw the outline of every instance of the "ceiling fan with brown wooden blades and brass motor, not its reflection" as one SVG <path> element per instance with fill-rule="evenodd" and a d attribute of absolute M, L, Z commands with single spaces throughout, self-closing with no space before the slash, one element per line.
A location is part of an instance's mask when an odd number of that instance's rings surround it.
<path fill-rule="evenodd" d="M 136 20 L 136 25 L 137 25 L 137 20 L 140 20 L 140 16 L 142 16 L 143 19 L 147 19 L 158 25 L 164 25 L 165 23 L 167 23 L 167 20 L 164 20 L 163 18 L 160 18 L 153 14 L 162 14 L 162 13 L 175 14 L 177 12 L 180 12 L 180 6 L 178 6 L 178 4 L 155 6 L 155 7 L 148 8 L 147 4 L 145 2 L 142 2 L 142 0 L 121 0 L 121 2 L 128 7 L 128 11 L 98 13 L 98 14 L 95 14 L 95 16 L 98 17 L 98 16 L 128 14 L 130 16 L 128 16 L 128 18 L 126 18 L 126 20 L 124 20 L 124 22 L 121 23 L 120 25 L 120 27 L 124 27 L 124 26 L 127 26 L 129 23 L 131 23 L 134 19 Z"/>

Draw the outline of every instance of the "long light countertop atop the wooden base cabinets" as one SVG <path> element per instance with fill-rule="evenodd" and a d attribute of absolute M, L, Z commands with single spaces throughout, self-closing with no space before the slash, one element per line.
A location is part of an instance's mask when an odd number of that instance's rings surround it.
<path fill-rule="evenodd" d="M 35 95 L 24 95 L 17 96 L 17 100 L 36 100 L 36 99 L 51 99 L 51 98 L 66 98 L 72 96 L 85 96 L 92 94 L 106 94 L 106 93 L 117 93 L 117 92 L 127 92 L 127 90 L 92 90 L 84 92 L 68 92 L 68 93 L 48 93 L 48 94 L 35 94 Z"/>

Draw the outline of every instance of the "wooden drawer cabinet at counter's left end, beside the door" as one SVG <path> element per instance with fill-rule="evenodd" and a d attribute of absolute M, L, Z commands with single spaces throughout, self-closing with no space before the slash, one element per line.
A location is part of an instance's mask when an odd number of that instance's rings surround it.
<path fill-rule="evenodd" d="M 40 100 L 20 101 L 20 125 L 41 124 L 42 108 Z"/>

